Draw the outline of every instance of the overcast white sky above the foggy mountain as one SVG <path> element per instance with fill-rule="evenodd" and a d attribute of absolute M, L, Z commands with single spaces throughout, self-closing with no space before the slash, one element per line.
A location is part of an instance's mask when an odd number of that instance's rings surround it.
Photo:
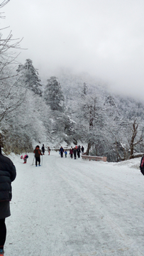
<path fill-rule="evenodd" d="M 1 11 L 1 27 L 28 48 L 18 60 L 31 58 L 41 78 L 59 68 L 86 71 L 143 98 L 143 0 L 10 0 Z"/>

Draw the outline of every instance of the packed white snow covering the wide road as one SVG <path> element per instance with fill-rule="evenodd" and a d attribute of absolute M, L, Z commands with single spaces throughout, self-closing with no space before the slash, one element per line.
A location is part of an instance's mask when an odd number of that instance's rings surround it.
<path fill-rule="evenodd" d="M 140 159 L 108 163 L 46 152 L 16 165 L 6 256 L 144 255 Z M 42 159 L 41 159 L 42 160 Z"/>

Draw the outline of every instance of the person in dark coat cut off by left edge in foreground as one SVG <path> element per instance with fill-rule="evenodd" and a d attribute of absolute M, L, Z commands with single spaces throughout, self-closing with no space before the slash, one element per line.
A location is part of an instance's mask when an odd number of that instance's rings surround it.
<path fill-rule="evenodd" d="M 6 241 L 5 218 L 11 215 L 10 201 L 12 198 L 11 182 L 16 178 L 16 167 L 8 157 L 1 152 L 0 146 L 0 255 L 4 255 Z"/>

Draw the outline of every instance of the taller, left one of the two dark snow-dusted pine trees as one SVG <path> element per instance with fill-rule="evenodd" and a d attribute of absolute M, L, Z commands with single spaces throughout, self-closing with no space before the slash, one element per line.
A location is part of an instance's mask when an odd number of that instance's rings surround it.
<path fill-rule="evenodd" d="M 42 91 L 40 89 L 42 85 L 38 78 L 38 71 L 33 67 L 32 60 L 27 59 L 24 65 L 18 65 L 16 71 L 21 73 L 21 78 L 25 81 L 28 89 L 31 89 L 35 94 L 42 96 Z"/>

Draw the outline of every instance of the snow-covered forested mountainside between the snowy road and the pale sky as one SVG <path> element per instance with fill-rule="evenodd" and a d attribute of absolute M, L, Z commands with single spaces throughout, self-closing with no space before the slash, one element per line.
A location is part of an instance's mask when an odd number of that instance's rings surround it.
<path fill-rule="evenodd" d="M 3 1 L 0 8 L 6 4 Z M 40 78 L 33 60 L 18 63 L 21 40 L 0 33 L 0 143 L 5 154 L 85 145 L 86 154 L 123 161 L 144 152 L 144 105 L 113 94 L 87 73 Z M 43 82 L 42 82 L 43 80 Z"/>

